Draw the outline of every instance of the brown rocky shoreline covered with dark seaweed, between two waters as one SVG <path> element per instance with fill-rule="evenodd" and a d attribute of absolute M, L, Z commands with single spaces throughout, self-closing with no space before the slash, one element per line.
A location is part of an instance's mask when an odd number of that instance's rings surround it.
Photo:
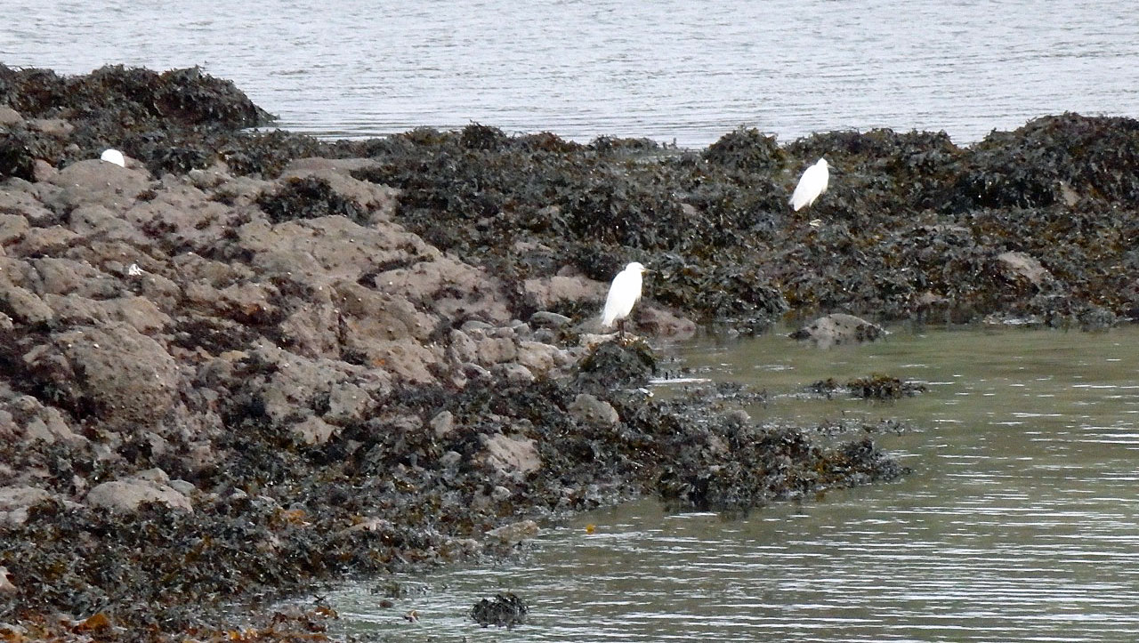
<path fill-rule="evenodd" d="M 716 391 L 647 396 L 650 345 L 596 321 L 629 261 L 657 271 L 647 337 L 1139 311 L 1128 118 L 970 148 L 739 130 L 702 151 L 243 131 L 269 122 L 196 69 L 0 66 L 6 640 L 216 640 L 248 625 L 233 601 L 508 552 L 526 520 L 904 473 L 870 439 L 823 447 Z M 831 190 L 794 213 L 820 156 Z M 311 640 L 323 616 L 261 615 L 237 640 Z"/>

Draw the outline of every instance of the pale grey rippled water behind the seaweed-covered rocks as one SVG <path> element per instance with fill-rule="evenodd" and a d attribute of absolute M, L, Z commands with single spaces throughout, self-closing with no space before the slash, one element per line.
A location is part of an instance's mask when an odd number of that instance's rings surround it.
<path fill-rule="evenodd" d="M 328 137 L 481 122 L 704 147 L 738 125 L 945 130 L 1139 115 L 1118 0 L 0 0 L 0 61 L 199 65 Z"/>

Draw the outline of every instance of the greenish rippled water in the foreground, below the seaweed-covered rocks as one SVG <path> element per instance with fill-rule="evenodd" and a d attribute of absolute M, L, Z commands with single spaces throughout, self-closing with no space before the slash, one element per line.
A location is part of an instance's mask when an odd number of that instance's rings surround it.
<path fill-rule="evenodd" d="M 393 641 L 1139 640 L 1139 328 L 896 332 L 816 351 L 778 336 L 682 347 L 715 380 L 765 387 L 753 418 L 877 420 L 899 483 L 744 520 L 646 501 L 549 529 L 533 555 L 433 576 L 378 607 L 329 596 L 347 632 Z M 880 372 L 928 382 L 896 403 L 806 401 L 802 385 Z M 597 526 L 587 534 L 585 525 Z M 371 585 L 375 585 L 372 583 Z M 528 624 L 481 630 L 481 597 L 518 593 Z M 401 615 L 417 609 L 419 623 Z"/>

